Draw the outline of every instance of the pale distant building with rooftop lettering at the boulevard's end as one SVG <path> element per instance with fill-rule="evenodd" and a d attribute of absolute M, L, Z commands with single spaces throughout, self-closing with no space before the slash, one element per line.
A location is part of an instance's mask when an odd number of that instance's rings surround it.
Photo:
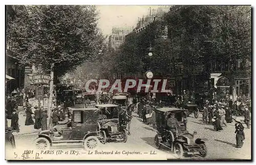
<path fill-rule="evenodd" d="M 113 27 L 109 36 L 109 49 L 116 50 L 125 40 L 125 35 L 132 31 L 132 27 Z"/>

